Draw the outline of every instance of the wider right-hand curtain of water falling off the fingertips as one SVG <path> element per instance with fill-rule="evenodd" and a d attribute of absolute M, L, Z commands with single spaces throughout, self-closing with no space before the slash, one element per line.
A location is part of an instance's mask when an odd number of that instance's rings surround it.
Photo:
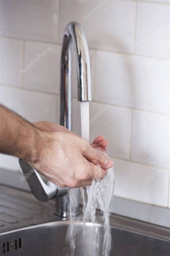
<path fill-rule="evenodd" d="M 104 154 L 103 151 L 97 149 L 101 154 Z M 106 155 L 106 154 L 105 154 Z M 112 246 L 112 236 L 110 229 L 109 217 L 113 213 L 113 193 L 114 193 L 114 171 L 113 168 L 107 170 L 107 175 L 100 181 L 100 166 L 98 165 L 98 178 L 92 181 L 90 186 L 86 186 L 87 192 L 87 203 L 84 210 L 84 221 L 90 220 L 95 228 L 93 229 L 94 237 L 94 248 L 93 256 L 98 256 L 98 247 L 99 247 L 99 233 L 97 226 L 95 225 L 95 213 L 97 203 L 99 203 L 100 210 L 102 212 L 102 220 L 104 220 L 104 229 L 103 229 L 103 244 L 102 244 L 102 256 L 109 256 L 109 252 Z M 83 202 L 84 203 L 84 202 Z M 86 233 L 86 229 L 84 228 Z M 88 233 L 88 232 L 87 232 Z"/>

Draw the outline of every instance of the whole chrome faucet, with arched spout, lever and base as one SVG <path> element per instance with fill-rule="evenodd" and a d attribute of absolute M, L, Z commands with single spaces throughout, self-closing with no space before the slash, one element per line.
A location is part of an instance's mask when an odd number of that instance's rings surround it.
<path fill-rule="evenodd" d="M 76 56 L 78 101 L 91 101 L 89 50 L 81 25 L 70 22 L 63 34 L 60 79 L 60 124 L 72 130 L 72 53 Z M 19 159 L 22 171 L 33 195 L 42 202 L 56 197 L 55 213 L 62 218 L 68 215 L 69 196 L 67 188 L 61 188 L 42 178 L 27 162 Z M 27 175 L 27 176 L 26 176 Z M 77 193 L 76 213 L 79 213 Z"/>

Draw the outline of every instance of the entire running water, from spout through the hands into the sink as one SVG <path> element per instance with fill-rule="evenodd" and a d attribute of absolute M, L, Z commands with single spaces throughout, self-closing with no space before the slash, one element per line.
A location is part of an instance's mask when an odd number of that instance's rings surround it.
<path fill-rule="evenodd" d="M 84 101 L 80 102 L 81 107 L 81 137 L 89 141 L 89 102 Z M 97 149 L 100 151 L 99 149 Z M 101 154 L 104 154 L 100 151 Z M 114 171 L 113 168 L 108 169 L 107 175 L 103 180 L 100 181 L 100 166 L 96 165 L 96 174 L 97 177 L 92 181 L 90 186 L 81 187 L 81 198 L 82 198 L 82 210 L 83 210 L 83 221 L 84 228 L 82 235 L 85 237 L 89 233 L 89 229 L 86 229 L 86 221 L 90 221 L 93 224 L 93 250 L 91 251 L 91 256 L 109 256 L 111 249 L 111 231 L 109 217 L 110 213 L 114 210 L 113 206 L 113 192 L 114 192 Z M 85 197 L 85 191 L 87 197 Z M 75 228 L 75 209 L 76 209 L 76 193 L 77 189 L 69 188 L 69 199 L 70 199 L 70 225 L 67 230 L 66 240 L 70 243 L 70 253 L 71 256 L 74 256 L 75 252 L 75 239 L 76 239 L 76 228 Z M 98 232 L 98 222 L 96 222 L 96 207 L 97 204 L 100 206 L 102 213 L 101 219 L 104 220 L 104 229 L 103 229 L 103 244 L 102 252 L 99 254 L 99 232 Z M 85 254 L 86 255 L 86 254 Z"/>

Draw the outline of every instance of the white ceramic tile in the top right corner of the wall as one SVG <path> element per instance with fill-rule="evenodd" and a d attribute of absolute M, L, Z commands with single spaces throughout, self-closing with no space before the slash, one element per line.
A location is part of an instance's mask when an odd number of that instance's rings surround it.
<path fill-rule="evenodd" d="M 137 3 L 136 53 L 162 56 L 169 51 L 169 5 Z"/>

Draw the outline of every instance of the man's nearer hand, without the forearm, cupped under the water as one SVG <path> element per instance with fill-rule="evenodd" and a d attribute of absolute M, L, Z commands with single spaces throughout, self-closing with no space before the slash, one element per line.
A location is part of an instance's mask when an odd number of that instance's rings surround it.
<path fill-rule="evenodd" d="M 107 156 L 74 133 L 41 131 L 40 138 L 38 161 L 29 164 L 36 168 L 37 162 L 41 163 L 50 155 L 38 171 L 60 187 L 90 185 L 94 178 L 104 178 L 107 169 L 113 165 Z"/>

